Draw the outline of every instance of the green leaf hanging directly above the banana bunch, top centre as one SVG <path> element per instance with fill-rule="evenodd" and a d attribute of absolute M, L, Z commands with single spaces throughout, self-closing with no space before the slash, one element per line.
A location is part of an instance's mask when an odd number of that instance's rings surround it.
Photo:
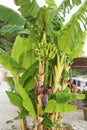
<path fill-rule="evenodd" d="M 54 22 L 56 19 L 56 22 Z M 56 24 L 55 24 L 56 23 Z M 46 28 L 46 35 L 49 37 L 51 42 L 54 42 L 54 28 L 58 30 L 59 20 L 56 17 L 55 9 L 50 9 L 48 7 L 40 8 L 38 18 L 36 19 L 35 26 L 38 28 L 39 33 Z M 38 33 L 38 36 L 39 36 Z"/>

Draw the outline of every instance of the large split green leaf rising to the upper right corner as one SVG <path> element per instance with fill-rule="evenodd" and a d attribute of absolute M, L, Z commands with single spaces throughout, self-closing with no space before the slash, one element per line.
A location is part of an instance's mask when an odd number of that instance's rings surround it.
<path fill-rule="evenodd" d="M 74 48 L 78 48 L 79 44 L 82 44 L 84 32 L 80 23 L 83 24 L 82 21 L 84 21 L 84 29 L 86 29 L 86 7 L 87 2 L 80 7 L 80 9 L 72 16 L 71 20 L 58 32 L 58 47 L 60 50 L 68 54 L 72 53 Z M 78 51 L 77 53 L 79 54 Z"/>

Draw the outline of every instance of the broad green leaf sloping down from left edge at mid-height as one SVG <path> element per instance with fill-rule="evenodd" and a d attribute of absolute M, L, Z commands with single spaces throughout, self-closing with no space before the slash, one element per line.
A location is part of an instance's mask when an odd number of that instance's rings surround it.
<path fill-rule="evenodd" d="M 10 72 L 19 74 L 25 71 L 10 55 L 0 49 L 0 64 L 2 64 Z"/>

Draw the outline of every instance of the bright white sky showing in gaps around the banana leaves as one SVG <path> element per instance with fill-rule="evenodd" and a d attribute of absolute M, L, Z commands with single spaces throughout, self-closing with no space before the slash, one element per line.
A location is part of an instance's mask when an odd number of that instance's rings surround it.
<path fill-rule="evenodd" d="M 55 0 L 56 3 L 59 5 L 61 4 L 62 0 Z M 43 4 L 45 4 L 45 0 L 37 0 L 37 2 L 40 4 L 40 6 L 42 6 Z M 8 6 L 10 8 L 12 8 L 13 10 L 18 10 L 18 7 L 14 4 L 14 0 L 0 0 L 0 4 Z M 67 17 L 67 20 L 69 19 L 69 17 Z M 84 56 L 87 56 L 87 40 L 85 42 L 84 45 Z"/>

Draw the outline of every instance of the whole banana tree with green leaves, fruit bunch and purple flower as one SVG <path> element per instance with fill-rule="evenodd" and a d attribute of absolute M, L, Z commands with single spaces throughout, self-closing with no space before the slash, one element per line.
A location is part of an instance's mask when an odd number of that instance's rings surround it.
<path fill-rule="evenodd" d="M 14 0 L 21 15 L 0 5 L 0 20 L 6 24 L 0 33 L 16 34 L 11 55 L 0 49 L 0 63 L 12 77 L 7 82 L 13 92 L 7 95 L 19 108 L 21 130 L 31 129 L 26 117 L 32 116 L 32 130 L 62 129 L 61 114 L 75 111 L 69 102 L 84 95 L 67 89 L 69 70 L 74 58 L 82 54 L 86 36 L 87 1 L 64 0 L 57 6 L 46 0 L 40 7 L 36 0 Z M 80 8 L 70 21 L 65 16 L 74 6 Z"/>

